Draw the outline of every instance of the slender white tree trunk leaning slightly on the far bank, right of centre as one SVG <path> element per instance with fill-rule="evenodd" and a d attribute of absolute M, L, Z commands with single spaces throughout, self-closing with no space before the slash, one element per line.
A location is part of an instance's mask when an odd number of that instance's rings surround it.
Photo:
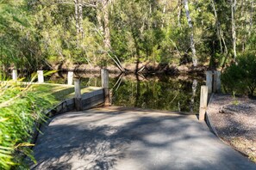
<path fill-rule="evenodd" d="M 197 67 L 197 53 L 196 53 L 194 34 L 193 34 L 193 25 L 192 25 L 192 21 L 191 21 L 191 17 L 190 17 L 190 9 L 189 9 L 188 0 L 184 0 L 184 9 L 186 11 L 186 17 L 187 17 L 188 24 L 190 27 L 190 48 L 192 51 L 192 62 L 193 62 L 193 66 Z"/>

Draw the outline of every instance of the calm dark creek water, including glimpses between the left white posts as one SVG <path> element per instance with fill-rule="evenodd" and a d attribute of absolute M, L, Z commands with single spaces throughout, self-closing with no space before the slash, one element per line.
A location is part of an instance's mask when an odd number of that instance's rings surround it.
<path fill-rule="evenodd" d="M 84 86 L 101 86 L 100 75 L 77 74 Z M 46 82 L 66 83 L 66 73 Z M 109 75 L 114 106 L 134 106 L 181 112 L 198 112 L 202 77 Z"/>

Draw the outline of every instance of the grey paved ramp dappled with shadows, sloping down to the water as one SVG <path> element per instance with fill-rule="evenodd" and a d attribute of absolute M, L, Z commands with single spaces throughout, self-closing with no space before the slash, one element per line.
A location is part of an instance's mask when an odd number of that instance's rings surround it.
<path fill-rule="evenodd" d="M 196 116 L 100 108 L 53 118 L 32 169 L 256 169 Z"/>

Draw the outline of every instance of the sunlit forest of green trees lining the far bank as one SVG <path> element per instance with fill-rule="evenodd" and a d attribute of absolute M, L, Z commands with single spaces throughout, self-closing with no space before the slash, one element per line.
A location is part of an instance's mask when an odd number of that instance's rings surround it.
<path fill-rule="evenodd" d="M 253 0 L 0 0 L 1 70 L 224 68 L 255 54 Z"/>

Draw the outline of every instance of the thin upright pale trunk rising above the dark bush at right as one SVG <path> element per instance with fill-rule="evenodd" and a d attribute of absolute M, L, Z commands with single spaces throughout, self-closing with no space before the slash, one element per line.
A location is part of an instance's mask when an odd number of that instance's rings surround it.
<path fill-rule="evenodd" d="M 235 8 L 236 8 L 236 0 L 231 0 L 231 22 L 232 22 L 232 44 L 233 44 L 233 52 L 234 52 L 234 62 L 236 60 L 236 32 L 235 32 Z"/>

